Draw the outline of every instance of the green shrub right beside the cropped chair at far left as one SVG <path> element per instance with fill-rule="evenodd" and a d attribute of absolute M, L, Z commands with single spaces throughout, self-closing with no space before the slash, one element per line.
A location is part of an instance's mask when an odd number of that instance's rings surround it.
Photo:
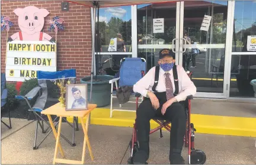
<path fill-rule="evenodd" d="M 7 90 L 8 90 L 8 105 L 9 108 L 14 108 L 18 105 L 18 100 L 15 99 L 15 95 L 17 95 L 17 90 L 13 83 L 7 83 Z"/>

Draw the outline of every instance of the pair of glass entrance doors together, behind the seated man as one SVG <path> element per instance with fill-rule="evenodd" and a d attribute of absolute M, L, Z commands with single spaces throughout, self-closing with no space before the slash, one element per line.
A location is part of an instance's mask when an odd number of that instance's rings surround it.
<path fill-rule="evenodd" d="M 175 52 L 176 64 L 193 72 L 196 96 L 226 98 L 227 43 L 232 41 L 227 37 L 232 28 L 229 4 L 177 1 L 137 5 L 137 57 L 146 59 L 149 70 L 158 65 L 159 50 L 170 48 Z"/>

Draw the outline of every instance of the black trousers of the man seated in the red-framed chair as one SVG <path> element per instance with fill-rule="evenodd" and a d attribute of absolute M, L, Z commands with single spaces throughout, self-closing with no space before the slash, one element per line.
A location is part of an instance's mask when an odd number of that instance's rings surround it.
<path fill-rule="evenodd" d="M 160 104 L 160 107 L 157 110 L 153 108 L 151 100 L 149 98 L 145 98 L 145 100 L 140 103 L 136 112 L 137 140 L 139 141 L 139 150 L 146 152 L 148 155 L 147 159 L 149 158 L 149 121 L 155 116 L 162 116 L 161 108 L 162 105 L 167 101 L 165 92 L 155 93 L 155 95 Z M 169 150 L 169 159 L 171 160 L 172 154 L 181 154 L 181 150 L 183 148 L 186 123 L 184 106 L 178 102 L 172 103 L 172 105 L 167 108 L 164 118 L 171 121 Z"/>

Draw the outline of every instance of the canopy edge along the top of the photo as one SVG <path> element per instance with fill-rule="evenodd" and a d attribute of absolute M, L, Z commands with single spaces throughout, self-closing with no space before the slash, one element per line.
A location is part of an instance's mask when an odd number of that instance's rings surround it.
<path fill-rule="evenodd" d="M 148 1 L 68 1 L 73 2 L 76 4 L 84 5 L 87 7 L 119 7 L 119 6 L 126 6 L 126 5 L 139 5 L 139 4 L 158 4 L 158 3 L 165 3 L 165 2 L 172 2 L 169 1 L 161 1 L 161 0 L 148 0 Z"/>

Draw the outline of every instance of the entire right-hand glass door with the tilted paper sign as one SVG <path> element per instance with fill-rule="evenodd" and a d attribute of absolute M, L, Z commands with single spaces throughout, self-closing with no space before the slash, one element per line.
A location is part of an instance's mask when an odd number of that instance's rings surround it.
<path fill-rule="evenodd" d="M 178 64 L 193 72 L 196 96 L 226 98 L 228 1 L 180 2 Z"/>

